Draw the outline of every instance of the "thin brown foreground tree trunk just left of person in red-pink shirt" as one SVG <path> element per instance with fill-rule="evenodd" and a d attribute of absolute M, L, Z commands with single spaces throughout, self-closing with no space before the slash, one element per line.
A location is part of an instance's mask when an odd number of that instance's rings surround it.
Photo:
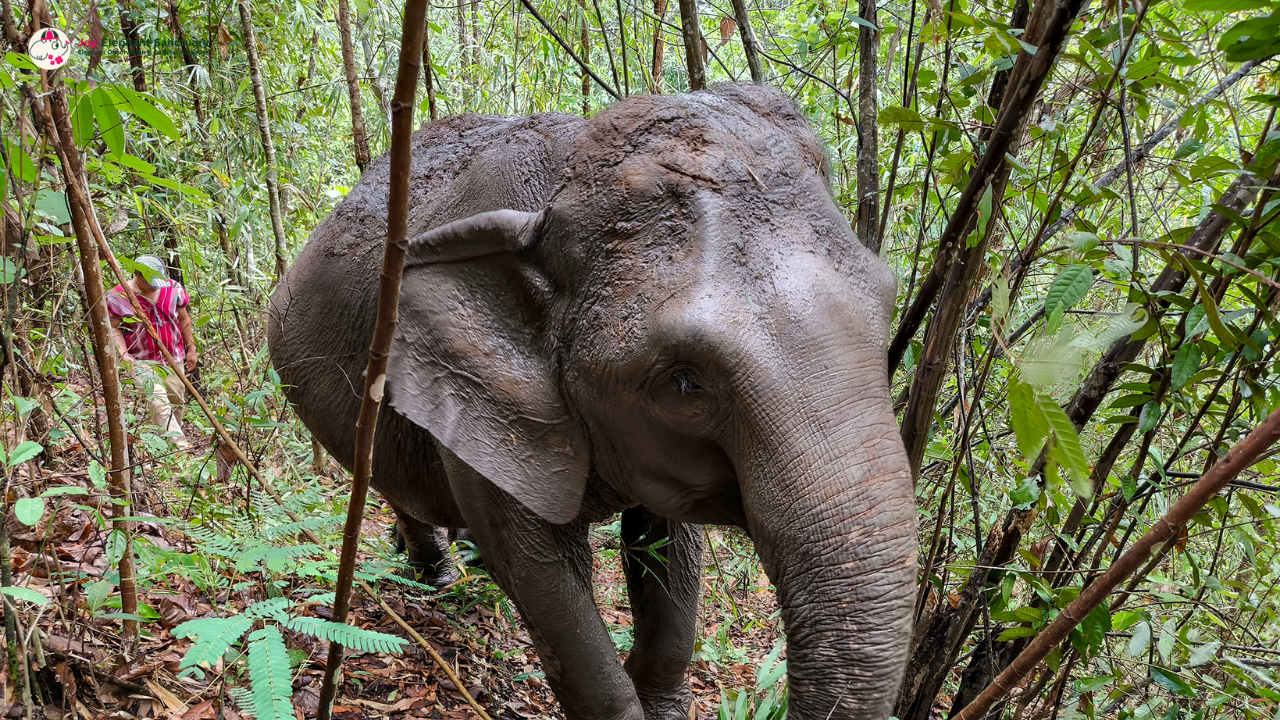
<path fill-rule="evenodd" d="M 102 404 L 106 407 L 108 434 L 111 443 L 111 468 L 109 483 L 115 500 L 129 502 L 132 488 L 129 482 L 128 446 L 124 429 L 124 413 L 120 404 L 120 378 L 115 351 L 111 346 L 111 324 L 106 314 L 106 295 L 102 286 L 102 270 L 99 263 L 93 225 L 97 219 L 90 206 L 88 193 L 79 164 L 79 151 L 72 135 L 72 123 L 67 110 L 67 96 L 61 87 L 45 97 L 45 132 L 50 145 L 58 154 L 67 184 L 67 200 L 72 213 L 72 228 L 76 232 L 76 245 L 79 250 L 81 272 L 84 275 L 84 304 L 88 306 L 93 355 L 97 359 L 99 377 L 102 379 Z M 116 516 L 120 512 L 116 511 Z M 120 610 L 127 615 L 138 612 L 137 575 L 133 566 L 133 541 L 129 525 L 123 520 L 113 520 L 111 533 L 123 538 L 124 552 L 120 556 Z M 132 655 L 138 646 L 138 624 L 136 620 L 123 620 L 125 652 Z"/>

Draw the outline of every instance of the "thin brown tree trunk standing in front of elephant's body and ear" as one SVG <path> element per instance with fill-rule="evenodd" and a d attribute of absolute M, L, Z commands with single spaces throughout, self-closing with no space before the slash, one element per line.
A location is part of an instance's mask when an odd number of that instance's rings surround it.
<path fill-rule="evenodd" d="M 426 0 L 406 0 L 404 24 L 401 31 L 399 69 L 396 74 L 396 114 L 392 118 L 390 182 L 387 199 L 387 245 L 383 251 L 383 272 L 378 288 L 378 319 L 369 347 L 369 365 L 365 372 L 365 393 L 356 420 L 356 468 L 351 487 L 351 505 L 343 528 L 342 557 L 334 588 L 334 621 L 346 623 L 351 607 L 351 585 L 356 570 L 356 550 L 360 543 L 360 525 L 365 515 L 369 479 L 374 464 L 374 434 L 378 429 L 378 411 L 383 401 L 383 380 L 387 378 L 387 357 L 396 336 L 399 286 L 404 270 L 404 246 L 408 237 L 410 176 L 413 161 L 412 133 L 415 92 L 417 91 L 419 63 L 422 59 L 422 31 L 426 27 Z M 342 664 L 342 646 L 329 646 L 320 687 L 317 720 L 330 720 L 333 698 L 337 692 L 338 667 Z"/>

